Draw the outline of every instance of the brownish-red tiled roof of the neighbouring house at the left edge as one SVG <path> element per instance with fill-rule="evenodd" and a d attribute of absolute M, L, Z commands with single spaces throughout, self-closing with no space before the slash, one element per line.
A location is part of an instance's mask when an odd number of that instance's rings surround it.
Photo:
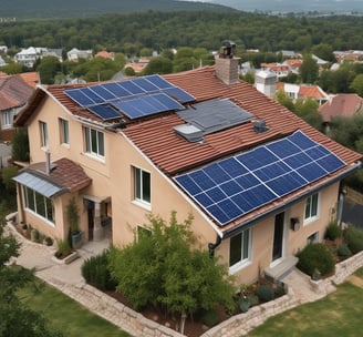
<path fill-rule="evenodd" d="M 33 91 L 19 75 L 0 76 L 0 110 L 24 105 Z"/>

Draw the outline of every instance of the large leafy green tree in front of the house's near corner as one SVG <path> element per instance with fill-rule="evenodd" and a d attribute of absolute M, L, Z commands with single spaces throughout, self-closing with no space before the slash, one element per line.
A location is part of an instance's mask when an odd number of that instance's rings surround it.
<path fill-rule="evenodd" d="M 172 212 L 169 224 L 151 215 L 151 235 L 124 248 L 112 247 L 110 268 L 118 286 L 136 309 L 166 307 L 182 316 L 209 310 L 218 304 L 232 307 L 235 287 L 227 267 L 206 251 L 193 249 L 195 237 L 189 216 L 178 223 Z"/>

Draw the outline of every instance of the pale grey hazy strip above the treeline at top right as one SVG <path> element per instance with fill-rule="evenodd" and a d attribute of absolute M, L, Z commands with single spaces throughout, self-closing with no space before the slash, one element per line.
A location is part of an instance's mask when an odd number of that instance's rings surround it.
<path fill-rule="evenodd" d="M 263 12 L 363 12 L 363 0 L 208 0 L 242 11 Z"/>

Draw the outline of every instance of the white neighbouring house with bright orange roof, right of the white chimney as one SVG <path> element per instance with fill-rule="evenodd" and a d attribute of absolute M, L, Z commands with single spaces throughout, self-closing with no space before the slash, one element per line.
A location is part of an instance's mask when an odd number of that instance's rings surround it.
<path fill-rule="evenodd" d="M 328 93 L 325 93 L 319 85 L 278 82 L 276 90 L 283 90 L 292 100 L 311 99 L 317 101 L 319 105 L 329 100 Z"/>

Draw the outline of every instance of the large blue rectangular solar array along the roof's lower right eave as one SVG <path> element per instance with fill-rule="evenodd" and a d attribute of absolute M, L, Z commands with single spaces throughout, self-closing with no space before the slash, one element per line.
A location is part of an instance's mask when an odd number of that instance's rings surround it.
<path fill-rule="evenodd" d="M 334 153 L 297 131 L 279 141 L 176 176 L 175 181 L 225 225 L 344 165 Z"/>

